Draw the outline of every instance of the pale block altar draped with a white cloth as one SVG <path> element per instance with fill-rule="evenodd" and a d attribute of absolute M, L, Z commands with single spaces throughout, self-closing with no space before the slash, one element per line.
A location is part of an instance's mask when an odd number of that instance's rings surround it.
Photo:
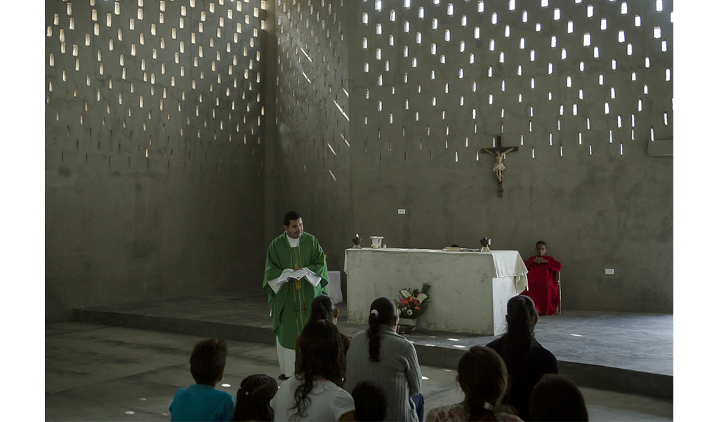
<path fill-rule="evenodd" d="M 527 285 L 516 250 L 347 249 L 344 272 L 349 322 L 367 324 L 378 297 L 399 299 L 400 290 L 430 283 L 429 307 L 418 327 L 487 336 L 506 331 L 507 301 Z"/>

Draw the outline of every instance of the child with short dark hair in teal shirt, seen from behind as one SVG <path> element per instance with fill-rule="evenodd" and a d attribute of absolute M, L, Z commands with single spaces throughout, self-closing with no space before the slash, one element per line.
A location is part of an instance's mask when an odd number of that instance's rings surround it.
<path fill-rule="evenodd" d="M 190 357 L 190 372 L 196 384 L 180 388 L 170 405 L 170 421 L 229 421 L 234 398 L 215 390 L 224 374 L 227 346 L 224 340 L 198 342 Z"/>

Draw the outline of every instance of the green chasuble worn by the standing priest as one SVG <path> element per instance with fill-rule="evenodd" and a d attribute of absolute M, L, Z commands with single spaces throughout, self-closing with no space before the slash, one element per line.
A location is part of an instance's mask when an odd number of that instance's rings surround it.
<path fill-rule="evenodd" d="M 285 269 L 293 270 L 308 268 L 319 275 L 322 280 L 315 287 L 301 278 L 299 281 L 288 281 L 275 294 L 267 281 L 278 278 Z M 317 239 L 302 233 L 297 248 L 290 248 L 287 233 L 282 233 L 270 243 L 267 249 L 267 265 L 262 289 L 267 291 L 270 303 L 270 317 L 273 319 L 273 332 L 280 339 L 285 349 L 295 349 L 295 342 L 310 318 L 312 299 L 327 294 L 327 263 L 324 250 Z"/>

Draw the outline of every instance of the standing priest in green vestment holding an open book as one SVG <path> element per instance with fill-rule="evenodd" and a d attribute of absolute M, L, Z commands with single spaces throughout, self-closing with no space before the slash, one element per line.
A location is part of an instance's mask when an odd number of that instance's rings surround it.
<path fill-rule="evenodd" d="M 284 218 L 285 233 L 267 249 L 262 289 L 269 296 L 280 360 L 280 379 L 294 375 L 295 342 L 310 318 L 312 299 L 327 294 L 327 263 L 317 239 L 305 233 L 302 217 L 290 211 Z"/>

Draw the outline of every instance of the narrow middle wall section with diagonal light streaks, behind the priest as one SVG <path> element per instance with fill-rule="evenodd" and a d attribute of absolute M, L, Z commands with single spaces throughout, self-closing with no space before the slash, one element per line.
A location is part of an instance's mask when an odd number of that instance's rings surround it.
<path fill-rule="evenodd" d="M 346 4 L 273 0 L 276 60 L 267 94 L 275 142 L 267 150 L 265 243 L 282 232 L 284 213 L 297 210 L 338 271 L 353 230 Z"/>

